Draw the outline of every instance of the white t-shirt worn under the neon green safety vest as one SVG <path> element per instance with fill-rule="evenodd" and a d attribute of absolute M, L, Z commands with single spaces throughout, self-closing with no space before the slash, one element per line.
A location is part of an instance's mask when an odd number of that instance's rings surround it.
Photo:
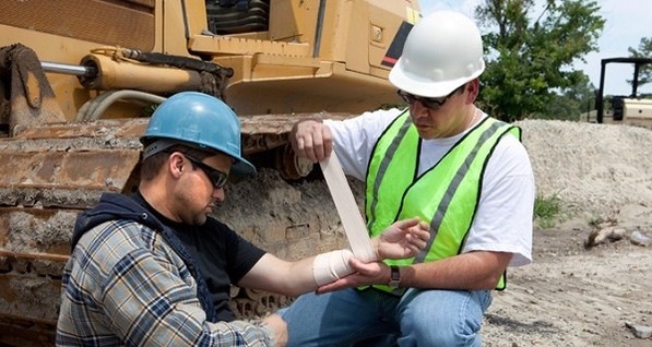
<path fill-rule="evenodd" d="M 378 110 L 344 121 L 324 121 L 346 175 L 366 179 L 377 139 L 401 112 Z M 435 165 L 464 133 L 424 140 L 418 175 Z M 514 254 L 510 266 L 530 264 L 534 195 L 534 175 L 525 147 L 514 136 L 503 136 L 485 169 L 479 204 L 462 252 L 510 252 Z"/>

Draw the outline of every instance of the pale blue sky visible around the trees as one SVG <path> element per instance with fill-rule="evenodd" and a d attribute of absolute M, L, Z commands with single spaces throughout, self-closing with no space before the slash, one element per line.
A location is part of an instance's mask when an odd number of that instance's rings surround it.
<path fill-rule="evenodd" d="M 535 0 L 537 3 L 542 0 Z M 582 70 L 593 85 L 600 86 L 601 60 L 604 58 L 629 57 L 628 48 L 639 48 L 641 37 L 652 37 L 652 1 L 651 0 L 595 0 L 601 7 L 600 13 L 606 20 L 604 29 L 597 40 L 598 51 L 584 57 L 586 62 L 574 64 Z M 422 14 L 427 15 L 435 10 L 457 10 L 474 17 L 474 9 L 482 0 L 419 0 Z M 605 95 L 629 95 L 631 86 L 627 80 L 633 76 L 633 65 L 609 63 L 606 65 Z M 639 93 L 652 93 L 652 85 L 639 87 Z"/>

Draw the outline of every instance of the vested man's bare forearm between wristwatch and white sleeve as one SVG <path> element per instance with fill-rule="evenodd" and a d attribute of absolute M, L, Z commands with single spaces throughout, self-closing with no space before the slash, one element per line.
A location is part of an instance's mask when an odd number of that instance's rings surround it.
<path fill-rule="evenodd" d="M 494 289 L 511 253 L 471 252 L 401 267 L 401 287 Z"/>

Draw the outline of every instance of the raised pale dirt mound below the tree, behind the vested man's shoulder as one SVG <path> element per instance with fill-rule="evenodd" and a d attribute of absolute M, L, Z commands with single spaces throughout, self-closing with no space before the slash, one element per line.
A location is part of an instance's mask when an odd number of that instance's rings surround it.
<path fill-rule="evenodd" d="M 627 205 L 652 207 L 652 131 L 543 120 L 517 124 L 537 192 L 558 196 L 567 214 L 604 218 Z"/>

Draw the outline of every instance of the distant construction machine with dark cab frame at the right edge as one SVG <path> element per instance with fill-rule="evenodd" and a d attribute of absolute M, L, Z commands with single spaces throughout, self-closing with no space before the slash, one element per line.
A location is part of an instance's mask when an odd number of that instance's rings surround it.
<path fill-rule="evenodd" d="M 604 83 L 606 68 L 612 63 L 633 64 L 631 94 L 612 96 L 610 108 L 605 108 Z M 652 64 L 652 58 L 605 58 L 601 61 L 600 88 L 595 92 L 595 113 L 589 120 L 597 123 L 625 123 L 652 129 L 652 98 L 638 93 L 641 68 Z"/>

